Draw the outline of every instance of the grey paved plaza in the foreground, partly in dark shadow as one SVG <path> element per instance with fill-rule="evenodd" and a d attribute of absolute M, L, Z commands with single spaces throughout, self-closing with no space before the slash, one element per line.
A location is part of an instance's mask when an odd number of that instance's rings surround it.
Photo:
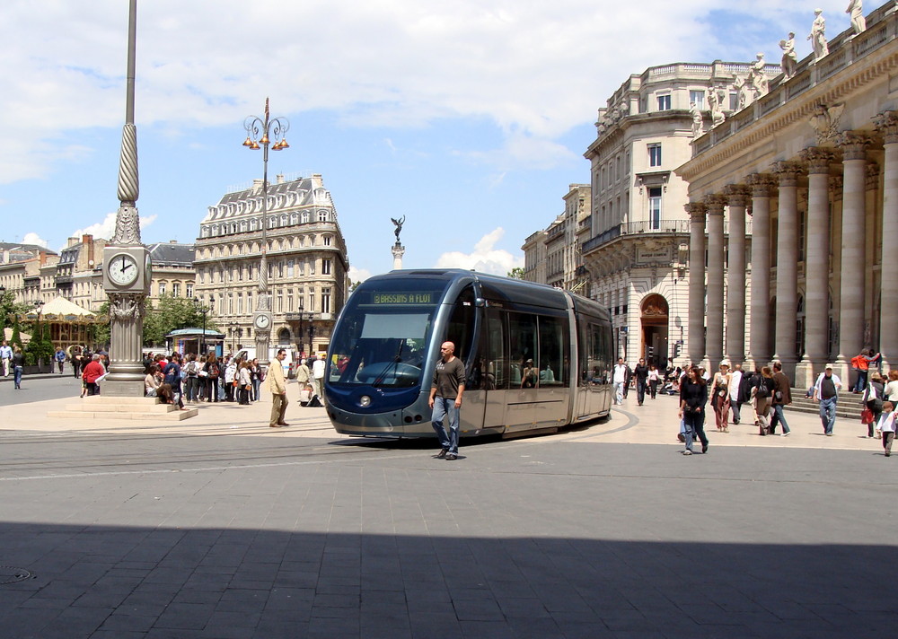
<path fill-rule="evenodd" d="M 339 436 L 323 409 L 49 420 L 0 383 L 0 636 L 885 637 L 898 460 L 840 419 L 675 441 L 675 398 L 523 440 Z M 75 386 L 73 388 L 76 389 Z M 16 391 L 18 392 L 18 391 Z M 296 387 L 290 386 L 295 398 Z M 47 398 L 44 398 L 47 397 Z M 713 427 L 711 428 L 713 430 Z"/>

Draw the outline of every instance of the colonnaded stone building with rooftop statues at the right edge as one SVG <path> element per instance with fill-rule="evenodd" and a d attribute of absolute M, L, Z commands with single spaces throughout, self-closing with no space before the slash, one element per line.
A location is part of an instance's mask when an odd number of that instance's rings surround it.
<path fill-rule="evenodd" d="M 800 388 L 829 362 L 848 379 L 864 347 L 898 364 L 895 4 L 866 22 L 696 139 L 676 170 L 693 362 L 779 359 Z"/>

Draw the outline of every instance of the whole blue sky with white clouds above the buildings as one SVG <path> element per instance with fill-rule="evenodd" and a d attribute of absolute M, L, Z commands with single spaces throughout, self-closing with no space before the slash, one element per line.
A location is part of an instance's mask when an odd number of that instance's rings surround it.
<path fill-rule="evenodd" d="M 353 281 L 392 268 L 505 275 L 588 183 L 596 110 L 672 62 L 779 60 L 847 0 L 138 0 L 142 240 L 192 243 L 207 207 L 262 176 L 243 121 L 289 121 L 269 179 L 321 173 Z M 865 3 L 870 13 L 881 3 Z M 0 4 L 0 241 L 109 237 L 125 118 L 128 0 Z"/>

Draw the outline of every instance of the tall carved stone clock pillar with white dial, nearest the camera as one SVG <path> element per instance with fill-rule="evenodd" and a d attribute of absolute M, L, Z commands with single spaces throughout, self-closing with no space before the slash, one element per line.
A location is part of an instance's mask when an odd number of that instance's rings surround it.
<path fill-rule="evenodd" d="M 110 372 L 103 395 L 144 396 L 144 304 L 150 292 L 150 253 L 140 241 L 137 215 L 137 132 L 134 126 L 136 0 L 128 11 L 128 86 L 119 159 L 115 235 L 103 249 L 103 288 L 110 298 Z"/>

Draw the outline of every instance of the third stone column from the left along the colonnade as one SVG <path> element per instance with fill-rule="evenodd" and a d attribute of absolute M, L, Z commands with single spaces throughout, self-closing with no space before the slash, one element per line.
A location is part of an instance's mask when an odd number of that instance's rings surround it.
<path fill-rule="evenodd" d="M 729 261 L 726 266 L 726 357 L 730 366 L 745 359 L 745 205 L 749 188 L 724 189 L 729 206 Z"/>

